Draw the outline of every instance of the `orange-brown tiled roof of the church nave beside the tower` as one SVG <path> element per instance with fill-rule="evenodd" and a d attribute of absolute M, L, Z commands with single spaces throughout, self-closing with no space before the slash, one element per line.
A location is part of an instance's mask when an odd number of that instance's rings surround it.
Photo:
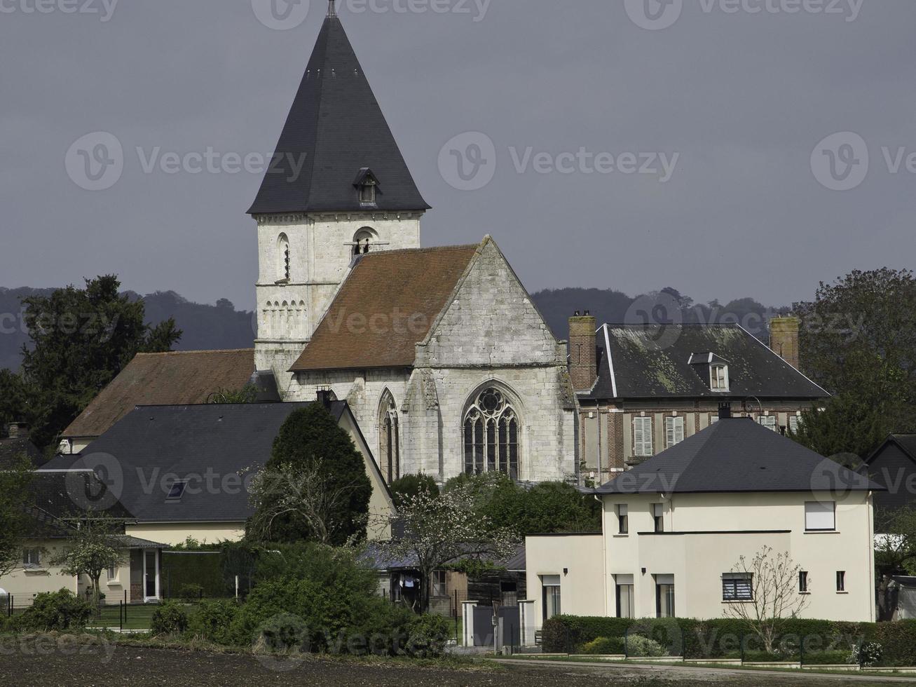
<path fill-rule="evenodd" d="M 479 247 L 363 256 L 291 372 L 412 366 Z"/>

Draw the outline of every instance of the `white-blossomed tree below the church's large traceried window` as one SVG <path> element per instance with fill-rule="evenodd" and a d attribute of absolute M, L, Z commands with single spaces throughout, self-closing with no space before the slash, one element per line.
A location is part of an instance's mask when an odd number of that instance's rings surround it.
<path fill-rule="evenodd" d="M 410 561 L 420 571 L 420 606 L 430 607 L 432 573 L 450 563 L 507 558 L 518 546 L 518 534 L 497 528 L 474 509 L 468 485 L 456 485 L 443 494 L 420 490 L 405 495 L 398 512 L 378 518 L 377 524 L 396 536 L 380 543 L 389 559 Z"/>

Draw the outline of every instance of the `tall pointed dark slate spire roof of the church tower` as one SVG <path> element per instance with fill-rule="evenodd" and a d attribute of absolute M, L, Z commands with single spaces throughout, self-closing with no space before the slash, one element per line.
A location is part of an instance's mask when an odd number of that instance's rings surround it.
<path fill-rule="evenodd" d="M 430 207 L 336 16 L 324 21 L 277 153 L 282 160 L 265 174 L 249 214 Z M 354 185 L 364 169 L 378 181 L 371 206 L 360 202 Z"/>

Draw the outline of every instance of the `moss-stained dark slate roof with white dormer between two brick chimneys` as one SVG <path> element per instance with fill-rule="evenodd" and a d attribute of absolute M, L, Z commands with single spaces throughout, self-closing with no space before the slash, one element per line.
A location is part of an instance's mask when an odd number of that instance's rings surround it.
<path fill-rule="evenodd" d="M 826 398 L 829 394 L 737 324 L 605 324 L 598 379 L 580 398 Z M 610 355 L 608 356 L 608 351 Z M 698 356 L 727 361 L 730 390 L 710 388 Z M 693 358 L 692 358 L 693 356 Z M 616 387 L 616 393 L 615 393 Z"/>

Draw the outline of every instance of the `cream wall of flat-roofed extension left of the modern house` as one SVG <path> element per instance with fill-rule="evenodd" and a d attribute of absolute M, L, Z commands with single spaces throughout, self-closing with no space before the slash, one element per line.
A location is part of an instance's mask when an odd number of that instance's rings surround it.
<path fill-rule="evenodd" d="M 607 615 L 604 545 L 600 534 L 527 537 L 525 551 L 527 593 L 534 601 L 531 618 L 535 627 L 540 628 L 544 620 L 544 575 L 560 575 L 563 614 Z"/>

